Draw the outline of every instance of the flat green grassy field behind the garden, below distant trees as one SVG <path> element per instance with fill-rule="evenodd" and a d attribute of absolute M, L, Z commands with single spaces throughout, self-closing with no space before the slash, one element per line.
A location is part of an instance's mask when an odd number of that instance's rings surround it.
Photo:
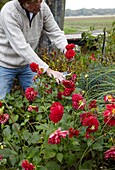
<path fill-rule="evenodd" d="M 65 34 L 81 33 L 91 29 L 103 31 L 104 28 L 109 30 L 112 23 L 115 22 L 115 16 L 79 16 L 65 17 L 64 32 Z"/>

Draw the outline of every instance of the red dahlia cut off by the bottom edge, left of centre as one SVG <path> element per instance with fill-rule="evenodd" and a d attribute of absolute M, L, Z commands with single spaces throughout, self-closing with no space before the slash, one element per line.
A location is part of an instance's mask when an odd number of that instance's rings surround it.
<path fill-rule="evenodd" d="M 32 163 L 29 163 L 28 160 L 23 160 L 21 166 L 24 170 L 34 170 L 35 169 L 35 166 Z"/>

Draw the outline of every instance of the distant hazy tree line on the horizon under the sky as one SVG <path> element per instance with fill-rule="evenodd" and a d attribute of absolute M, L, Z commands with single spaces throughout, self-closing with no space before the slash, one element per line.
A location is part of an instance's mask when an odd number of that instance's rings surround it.
<path fill-rule="evenodd" d="M 65 10 L 65 16 L 92 16 L 92 15 L 115 15 L 115 8 L 113 9 L 86 9 L 82 8 L 79 10 Z"/>

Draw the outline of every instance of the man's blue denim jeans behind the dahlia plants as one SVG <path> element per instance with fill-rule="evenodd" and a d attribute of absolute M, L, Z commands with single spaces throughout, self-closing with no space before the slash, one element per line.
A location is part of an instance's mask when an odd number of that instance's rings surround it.
<path fill-rule="evenodd" d="M 36 73 L 32 72 L 29 65 L 20 68 L 5 68 L 0 66 L 0 99 L 10 93 L 14 78 L 17 78 L 23 90 L 30 87 Z"/>

